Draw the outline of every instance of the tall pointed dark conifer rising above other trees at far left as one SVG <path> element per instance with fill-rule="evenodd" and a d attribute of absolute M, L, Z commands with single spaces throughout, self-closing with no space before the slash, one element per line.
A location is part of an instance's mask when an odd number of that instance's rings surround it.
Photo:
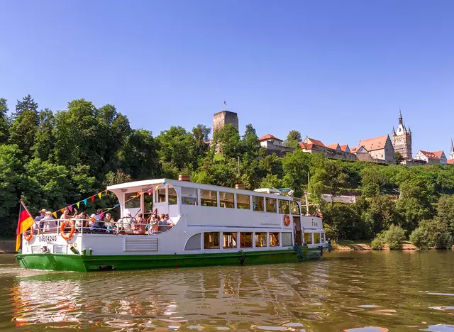
<path fill-rule="evenodd" d="M 9 128 L 9 143 L 18 145 L 25 155 L 31 155 L 38 124 L 38 104 L 29 94 L 22 101 L 17 101 Z"/>

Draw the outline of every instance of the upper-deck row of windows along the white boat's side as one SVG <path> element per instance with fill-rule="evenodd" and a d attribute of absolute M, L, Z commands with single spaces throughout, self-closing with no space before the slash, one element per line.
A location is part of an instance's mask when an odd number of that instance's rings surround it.
<path fill-rule="evenodd" d="M 212 190 L 194 189 L 182 187 L 183 205 L 201 205 L 222 207 L 226 209 L 245 209 L 253 211 L 272 212 L 279 214 L 294 214 L 299 216 L 299 205 L 296 201 L 287 199 L 275 199 L 245 194 L 233 194 L 231 192 L 214 192 Z M 175 188 L 169 187 L 169 204 L 178 204 Z M 165 189 L 158 189 L 157 201 L 165 202 Z M 199 200 L 200 197 L 200 200 Z"/>

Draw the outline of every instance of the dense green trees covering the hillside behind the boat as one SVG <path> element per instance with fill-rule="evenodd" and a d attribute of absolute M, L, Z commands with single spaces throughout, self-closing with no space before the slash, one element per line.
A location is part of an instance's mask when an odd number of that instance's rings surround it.
<path fill-rule="evenodd" d="M 307 193 L 310 203 L 320 204 L 331 237 L 372 239 L 392 228 L 399 246 L 403 233 L 393 225 L 402 227 L 405 236 L 416 229 L 412 237 L 421 247 L 443 246 L 454 236 L 452 165 L 331 160 L 303 153 L 298 131 L 290 131 L 286 140 L 297 148 L 294 153 L 278 157 L 267 155 L 252 124 L 242 133 L 224 126 L 213 134 L 211 145 L 210 133 L 198 125 L 192 131 L 172 126 L 153 135 L 131 128 L 115 106 L 96 108 L 84 99 L 55 112 L 39 110 L 26 96 L 12 114 L 0 99 L 0 237 L 13 236 L 21 198 L 36 214 L 42 208 L 61 209 L 109 184 L 179 174 L 206 184 L 287 187 L 296 197 Z M 322 194 L 331 201 L 355 195 L 356 202 L 326 203 Z M 115 202 L 103 197 L 95 204 L 89 202 L 87 209 Z M 428 235 L 429 228 L 437 230 L 435 235 Z"/>

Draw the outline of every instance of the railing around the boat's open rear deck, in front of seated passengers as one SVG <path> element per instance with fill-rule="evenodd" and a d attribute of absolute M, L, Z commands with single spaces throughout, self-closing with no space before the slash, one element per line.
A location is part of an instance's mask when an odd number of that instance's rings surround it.
<path fill-rule="evenodd" d="M 40 223 L 43 223 L 42 227 Z M 65 223 L 62 229 L 62 223 Z M 137 223 L 134 221 L 111 221 L 109 226 L 106 226 L 105 221 L 99 221 L 94 218 L 71 218 L 71 219 L 49 219 L 42 222 L 37 222 L 35 225 L 35 233 L 60 233 L 60 231 L 70 232 L 74 225 L 74 233 L 106 233 L 106 234 L 127 234 L 127 235 L 152 235 L 157 233 L 165 233 L 169 231 L 175 224 L 159 224 L 159 223 Z M 37 226 L 39 230 L 36 229 Z"/>

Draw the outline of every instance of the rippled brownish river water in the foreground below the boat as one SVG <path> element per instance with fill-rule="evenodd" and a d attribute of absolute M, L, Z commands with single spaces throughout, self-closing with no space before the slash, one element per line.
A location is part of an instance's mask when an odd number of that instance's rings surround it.
<path fill-rule="evenodd" d="M 454 331 L 454 252 L 281 265 L 23 270 L 0 255 L 0 331 Z"/>

